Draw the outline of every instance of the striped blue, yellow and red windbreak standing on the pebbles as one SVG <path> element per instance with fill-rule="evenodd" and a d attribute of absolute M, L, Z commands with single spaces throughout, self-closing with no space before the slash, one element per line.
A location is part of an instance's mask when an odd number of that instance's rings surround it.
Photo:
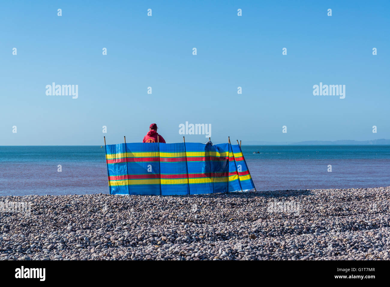
<path fill-rule="evenodd" d="M 188 195 L 254 188 L 238 145 L 131 143 L 105 148 L 110 194 Z"/>

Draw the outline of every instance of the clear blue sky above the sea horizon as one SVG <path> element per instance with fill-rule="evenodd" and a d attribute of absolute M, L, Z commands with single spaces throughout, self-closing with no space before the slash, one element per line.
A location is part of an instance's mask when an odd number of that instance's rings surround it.
<path fill-rule="evenodd" d="M 389 8 L 388 1 L 3 1 L 0 145 L 101 145 L 104 135 L 108 144 L 123 135 L 139 142 L 152 122 L 167 142 L 182 142 L 186 121 L 211 124 L 217 142 L 390 138 Z M 78 99 L 46 96 L 52 82 L 78 85 Z M 345 99 L 314 96 L 320 82 L 346 85 Z"/>

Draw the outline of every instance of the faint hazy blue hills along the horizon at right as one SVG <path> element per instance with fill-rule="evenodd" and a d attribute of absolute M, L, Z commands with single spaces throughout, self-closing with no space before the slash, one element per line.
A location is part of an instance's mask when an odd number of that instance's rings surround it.
<path fill-rule="evenodd" d="M 390 140 L 307 140 L 304 142 L 266 142 L 266 141 L 243 141 L 243 145 L 390 145 Z"/>

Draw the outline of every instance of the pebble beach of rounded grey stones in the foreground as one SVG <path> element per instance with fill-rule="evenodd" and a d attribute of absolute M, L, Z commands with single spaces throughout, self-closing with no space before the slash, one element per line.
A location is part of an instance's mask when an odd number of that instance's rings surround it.
<path fill-rule="evenodd" d="M 0 212 L 0 260 L 390 258 L 390 187 L 1 202 L 31 213 Z"/>

